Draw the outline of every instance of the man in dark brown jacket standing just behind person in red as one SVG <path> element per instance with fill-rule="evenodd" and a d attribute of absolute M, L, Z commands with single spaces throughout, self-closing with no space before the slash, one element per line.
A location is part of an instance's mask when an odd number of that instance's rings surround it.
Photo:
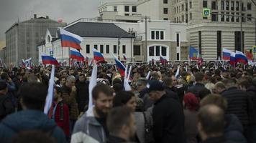
<path fill-rule="evenodd" d="M 68 76 L 65 85 L 62 87 L 63 102 L 68 105 L 69 119 L 70 119 L 70 132 L 73 130 L 73 126 L 78 119 L 78 104 L 76 102 L 76 78 L 74 76 Z"/>

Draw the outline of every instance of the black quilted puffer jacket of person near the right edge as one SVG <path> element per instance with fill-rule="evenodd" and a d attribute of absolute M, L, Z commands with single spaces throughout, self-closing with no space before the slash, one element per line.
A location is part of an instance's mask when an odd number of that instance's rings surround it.
<path fill-rule="evenodd" d="M 247 127 L 249 124 L 248 109 L 247 109 L 247 94 L 246 92 L 237 89 L 236 87 L 231 87 L 221 95 L 227 99 L 227 114 L 235 114 L 242 125 Z"/>

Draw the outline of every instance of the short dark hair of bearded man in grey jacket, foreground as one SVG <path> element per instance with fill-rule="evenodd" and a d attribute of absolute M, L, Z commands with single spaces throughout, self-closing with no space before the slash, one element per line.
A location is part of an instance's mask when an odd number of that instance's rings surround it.
<path fill-rule="evenodd" d="M 93 99 L 98 99 L 99 93 L 101 92 L 106 94 L 108 97 L 113 96 L 113 90 L 109 86 L 99 83 L 93 88 Z"/>

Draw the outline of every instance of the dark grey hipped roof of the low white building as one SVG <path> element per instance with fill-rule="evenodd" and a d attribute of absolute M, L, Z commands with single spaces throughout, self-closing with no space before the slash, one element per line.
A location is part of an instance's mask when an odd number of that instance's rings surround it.
<path fill-rule="evenodd" d="M 127 31 L 111 23 L 78 22 L 67 26 L 65 30 L 82 37 L 134 38 Z"/>

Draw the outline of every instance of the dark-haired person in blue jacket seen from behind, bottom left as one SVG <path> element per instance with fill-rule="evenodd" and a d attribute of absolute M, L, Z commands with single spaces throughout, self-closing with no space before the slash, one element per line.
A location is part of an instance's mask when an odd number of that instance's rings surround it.
<path fill-rule="evenodd" d="M 43 113 L 47 96 L 47 87 L 44 84 L 26 84 L 21 87 L 19 96 L 23 111 L 10 114 L 1 121 L 1 142 L 11 142 L 16 134 L 24 130 L 49 132 L 49 136 L 57 142 L 66 142 L 63 130 Z"/>

